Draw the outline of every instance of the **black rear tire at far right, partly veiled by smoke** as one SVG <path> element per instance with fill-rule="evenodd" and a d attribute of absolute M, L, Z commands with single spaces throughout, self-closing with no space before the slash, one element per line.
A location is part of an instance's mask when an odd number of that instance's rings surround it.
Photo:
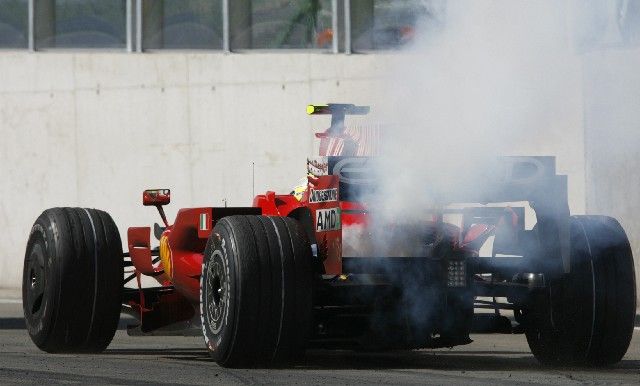
<path fill-rule="evenodd" d="M 636 312 L 633 256 L 615 219 L 571 217 L 571 273 L 536 295 L 525 333 L 547 365 L 604 366 L 629 347 Z"/>

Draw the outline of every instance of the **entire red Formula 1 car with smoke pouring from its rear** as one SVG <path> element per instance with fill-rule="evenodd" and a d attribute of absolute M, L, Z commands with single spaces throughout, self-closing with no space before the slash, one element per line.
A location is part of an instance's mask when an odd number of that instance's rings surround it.
<path fill-rule="evenodd" d="M 447 196 L 482 205 L 425 208 L 420 221 L 373 229 L 375 210 L 359 198 L 376 188 L 368 154 L 377 137 L 344 125 L 368 110 L 308 107 L 331 115 L 331 126 L 316 134 L 320 156 L 290 194 L 266 192 L 246 208 L 184 208 L 169 224 L 169 190 L 145 191 L 163 225 L 129 228 L 124 253 L 107 213 L 45 210 L 24 261 L 34 343 L 102 351 L 123 311 L 138 321 L 130 333 L 202 334 L 223 366 L 284 364 L 312 347 L 449 347 L 470 343 L 471 332 L 524 333 L 548 364 L 623 357 L 636 309 L 629 242 L 613 218 L 570 216 L 553 157 L 500 158 L 502 177 L 488 188 Z M 525 229 L 524 207 L 485 205 L 507 202 L 528 202 L 535 227 Z M 142 276 L 159 285 L 142 286 Z"/>

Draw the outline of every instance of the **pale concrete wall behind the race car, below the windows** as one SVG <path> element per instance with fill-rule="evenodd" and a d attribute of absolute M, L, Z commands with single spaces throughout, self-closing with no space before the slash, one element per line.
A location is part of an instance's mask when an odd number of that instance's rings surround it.
<path fill-rule="evenodd" d="M 107 210 L 121 232 L 158 221 L 141 192 L 184 206 L 248 205 L 305 171 L 308 102 L 379 101 L 397 54 L 0 53 L 0 287 L 17 287 L 29 229 L 52 206 Z M 581 63 L 541 89 L 513 153 L 558 155 L 571 207 L 585 207 Z M 544 71 L 544 69 L 539 69 Z M 568 85 L 568 86 L 567 86 Z"/>

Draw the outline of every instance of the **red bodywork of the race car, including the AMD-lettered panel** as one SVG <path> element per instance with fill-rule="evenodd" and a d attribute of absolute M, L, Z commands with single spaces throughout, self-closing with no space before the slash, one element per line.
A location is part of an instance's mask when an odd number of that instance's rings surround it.
<path fill-rule="evenodd" d="M 319 210 L 336 211 L 339 208 L 345 209 L 358 206 L 355 203 L 340 202 L 337 199 L 335 201 L 309 202 L 310 192 L 326 189 L 338 189 L 337 176 L 310 177 L 308 189 L 301 200 L 291 194 L 275 194 L 274 192 L 257 195 L 253 201 L 253 207 L 257 208 L 254 213 L 261 213 L 267 216 L 295 217 L 301 211 L 308 211 L 311 214 L 313 224 L 316 224 L 316 213 Z M 238 211 L 240 209 L 246 208 L 238 208 Z M 151 307 L 149 304 L 145 304 L 142 288 L 140 288 L 140 301 L 130 301 L 129 306 L 140 312 L 143 330 L 151 330 L 159 326 L 156 324 L 158 317 L 155 314 L 159 312 L 160 308 L 166 308 L 169 303 L 172 303 L 170 308 L 179 308 L 181 312 L 172 315 L 169 319 L 167 319 L 166 313 L 163 313 L 163 318 L 165 319 L 163 323 L 160 323 L 160 326 L 188 320 L 194 316 L 193 312 L 185 311 L 184 304 L 189 303 L 193 306 L 192 308 L 198 309 L 200 274 L 207 239 L 211 235 L 217 220 L 225 215 L 235 214 L 235 212 L 234 208 L 203 207 L 180 209 L 174 223 L 166 227 L 162 232 L 161 238 L 166 237 L 169 246 L 169 260 L 160 260 L 156 263 L 152 262 L 151 228 L 131 227 L 128 229 L 129 255 L 138 278 L 140 275 L 152 276 L 162 286 L 175 288 L 175 292 L 171 292 L 170 295 L 162 295 L 161 301 L 158 302 L 162 303 L 161 307 Z M 341 219 L 344 226 L 365 221 L 365 214 L 346 214 Z M 317 253 L 319 258 L 324 261 L 325 272 L 335 275 L 342 273 L 341 229 L 315 232 L 315 237 L 317 240 Z M 139 279 L 138 283 L 140 283 Z M 145 321 L 150 318 L 153 318 L 154 324 L 145 328 Z"/>

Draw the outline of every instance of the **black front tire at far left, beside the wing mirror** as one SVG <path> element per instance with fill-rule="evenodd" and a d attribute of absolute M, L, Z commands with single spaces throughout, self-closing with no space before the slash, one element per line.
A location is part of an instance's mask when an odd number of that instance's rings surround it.
<path fill-rule="evenodd" d="M 31 228 L 22 303 L 29 336 L 47 352 L 103 351 L 120 319 L 122 244 L 96 209 L 47 209 Z"/>

